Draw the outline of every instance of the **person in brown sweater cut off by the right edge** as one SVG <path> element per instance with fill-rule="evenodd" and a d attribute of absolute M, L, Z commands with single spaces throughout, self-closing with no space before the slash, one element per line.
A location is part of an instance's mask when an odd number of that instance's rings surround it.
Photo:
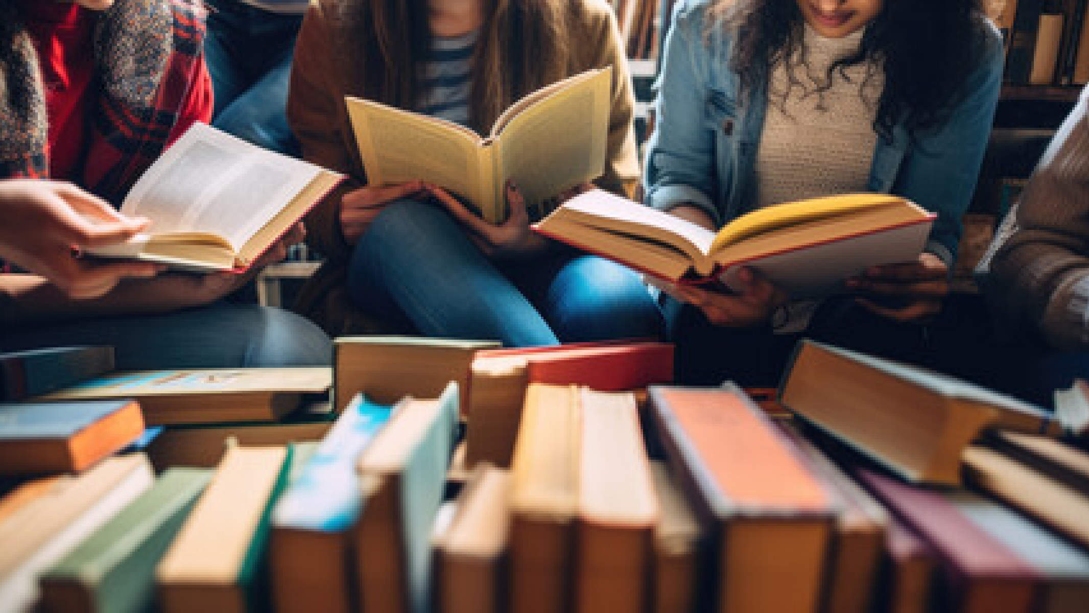
<path fill-rule="evenodd" d="M 1089 377 L 1089 88 L 977 271 L 1007 343 L 1007 391 L 1050 405 Z"/>

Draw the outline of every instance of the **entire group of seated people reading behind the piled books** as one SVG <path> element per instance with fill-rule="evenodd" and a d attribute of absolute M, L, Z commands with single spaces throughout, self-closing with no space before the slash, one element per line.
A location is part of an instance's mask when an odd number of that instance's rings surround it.
<path fill-rule="evenodd" d="M 802 335 L 915 363 L 933 351 L 928 323 L 949 293 L 1002 81 L 1002 40 L 978 0 L 677 0 L 643 164 L 624 49 L 602 0 L 315 0 L 305 17 L 298 1 L 209 4 L 207 40 L 189 0 L 0 9 L 0 179 L 14 180 L 0 184 L 0 256 L 44 275 L 0 277 L 0 348 L 103 343 L 122 367 L 231 367 L 325 363 L 327 333 L 511 346 L 664 338 L 676 343 L 680 382 L 744 384 L 773 384 Z M 270 32 L 267 47 L 245 41 Z M 754 271 L 733 291 L 659 293 L 635 271 L 534 233 L 547 211 L 531 214 L 513 183 L 500 224 L 441 185 L 367 183 L 345 96 L 484 133 L 523 95 L 604 66 L 614 69 L 604 174 L 555 201 L 589 188 L 631 196 L 640 165 L 647 206 L 712 230 L 781 201 L 893 193 L 937 213 L 923 253 L 823 301 L 788 301 Z M 1089 370 L 1079 353 L 1089 344 L 1087 105 L 986 262 L 998 320 L 1038 327 L 1033 364 L 1065 365 L 1041 367 L 1049 377 Z M 305 220 L 326 258 L 299 296 L 305 318 L 230 303 L 252 273 L 70 255 L 145 229 L 109 203 L 213 114 L 347 177 Z"/>

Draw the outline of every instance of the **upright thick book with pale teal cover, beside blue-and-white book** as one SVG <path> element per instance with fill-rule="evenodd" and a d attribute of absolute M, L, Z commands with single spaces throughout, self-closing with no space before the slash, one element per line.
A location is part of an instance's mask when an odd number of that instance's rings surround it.
<path fill-rule="evenodd" d="M 355 534 L 358 602 L 370 613 L 426 613 L 433 589 L 431 531 L 457 422 L 457 384 L 406 400 L 356 465 L 364 506 Z"/>

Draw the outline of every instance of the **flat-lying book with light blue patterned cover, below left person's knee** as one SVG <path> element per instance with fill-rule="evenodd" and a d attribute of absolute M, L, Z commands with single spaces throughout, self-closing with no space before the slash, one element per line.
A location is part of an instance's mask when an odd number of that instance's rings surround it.
<path fill-rule="evenodd" d="M 325 367 L 115 372 L 38 400 L 133 397 L 149 426 L 277 421 L 298 408 L 304 394 L 326 393 L 331 380 Z"/>

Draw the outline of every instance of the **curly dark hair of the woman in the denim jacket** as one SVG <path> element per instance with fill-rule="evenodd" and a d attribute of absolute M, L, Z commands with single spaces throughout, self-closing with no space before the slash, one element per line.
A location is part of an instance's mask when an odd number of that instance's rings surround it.
<path fill-rule="evenodd" d="M 743 90 L 767 78 L 768 66 L 785 60 L 802 41 L 798 0 L 718 0 L 711 27 L 737 33 L 731 69 Z M 882 138 L 904 121 L 915 135 L 941 124 L 964 95 L 964 83 L 983 53 L 989 27 L 980 0 L 883 0 L 862 35 L 858 52 L 833 63 L 873 62 L 884 71 L 873 130 Z"/>

